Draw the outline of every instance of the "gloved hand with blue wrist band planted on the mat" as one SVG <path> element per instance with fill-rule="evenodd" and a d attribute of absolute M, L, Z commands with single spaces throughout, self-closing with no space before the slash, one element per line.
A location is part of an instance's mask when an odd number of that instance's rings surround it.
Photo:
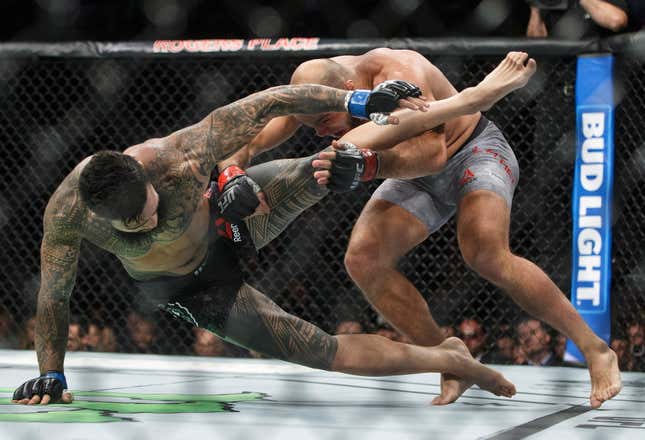
<path fill-rule="evenodd" d="M 72 393 L 67 391 L 65 375 L 57 371 L 48 371 L 16 388 L 11 402 L 22 405 L 47 405 L 71 403 L 72 400 L 74 398 Z"/>

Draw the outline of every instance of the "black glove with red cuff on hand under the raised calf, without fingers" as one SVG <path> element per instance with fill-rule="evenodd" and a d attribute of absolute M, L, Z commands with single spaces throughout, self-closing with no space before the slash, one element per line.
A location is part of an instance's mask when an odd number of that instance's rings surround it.
<path fill-rule="evenodd" d="M 356 148 L 345 142 L 344 150 L 336 150 L 332 160 L 327 188 L 333 192 L 347 192 L 355 189 L 359 182 L 374 179 L 380 168 L 380 159 L 376 151 L 367 148 Z"/>

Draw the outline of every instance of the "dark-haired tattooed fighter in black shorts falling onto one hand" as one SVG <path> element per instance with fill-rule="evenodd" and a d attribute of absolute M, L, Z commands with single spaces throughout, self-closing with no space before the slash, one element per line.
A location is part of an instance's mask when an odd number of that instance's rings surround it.
<path fill-rule="evenodd" d="M 427 129 L 427 124 L 441 123 L 442 115 L 477 111 L 508 91 L 507 84 L 470 90 L 436 110 L 427 108 L 423 120 L 415 124 L 418 130 Z M 72 400 L 63 363 L 69 298 L 83 239 L 116 255 L 142 293 L 169 313 L 271 357 L 362 375 L 450 372 L 497 395 L 512 396 L 513 384 L 475 361 L 456 338 L 428 348 L 376 335 L 331 336 L 287 314 L 242 279 L 231 245 L 234 225 L 219 218 L 226 203 L 218 206 L 210 198 L 213 186 L 226 193 L 246 178 L 230 171 L 215 182 L 210 176 L 219 161 L 248 143 L 271 118 L 345 109 L 367 116 L 391 111 L 399 99 L 418 94 L 418 89 L 402 82 L 378 86 L 371 93 L 320 85 L 275 87 L 216 109 L 165 138 L 150 139 L 123 153 L 102 151 L 84 159 L 45 210 L 35 338 L 41 375 L 18 387 L 13 401 Z M 411 107 L 424 106 L 411 102 Z M 377 119 L 395 122 L 396 116 L 377 115 Z M 264 246 L 326 193 L 313 178 L 313 159 L 249 169 L 271 208 L 269 214 L 247 221 L 256 247 Z"/>

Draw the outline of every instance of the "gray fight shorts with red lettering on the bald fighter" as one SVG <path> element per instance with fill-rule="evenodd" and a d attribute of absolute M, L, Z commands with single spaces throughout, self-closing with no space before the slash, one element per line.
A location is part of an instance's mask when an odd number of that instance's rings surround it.
<path fill-rule="evenodd" d="M 482 116 L 473 135 L 441 172 L 410 180 L 386 179 L 372 199 L 400 206 L 433 233 L 455 215 L 459 201 L 471 191 L 492 191 L 510 208 L 519 177 L 517 159 L 504 135 Z"/>

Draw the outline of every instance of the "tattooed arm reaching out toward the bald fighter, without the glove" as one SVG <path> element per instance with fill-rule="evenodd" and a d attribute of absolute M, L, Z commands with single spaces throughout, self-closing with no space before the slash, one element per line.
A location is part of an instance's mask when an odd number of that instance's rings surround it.
<path fill-rule="evenodd" d="M 278 86 L 218 108 L 201 122 L 170 136 L 170 142 L 209 175 L 217 162 L 248 144 L 272 119 L 290 114 L 345 111 L 347 90 L 321 85 Z"/>

